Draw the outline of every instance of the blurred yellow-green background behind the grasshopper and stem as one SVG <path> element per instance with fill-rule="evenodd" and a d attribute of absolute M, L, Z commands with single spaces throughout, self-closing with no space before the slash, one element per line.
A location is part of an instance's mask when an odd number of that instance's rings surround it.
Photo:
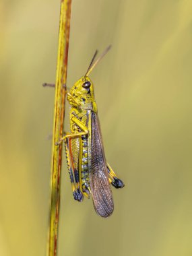
<path fill-rule="evenodd" d="M 59 8 L 0 3 L 1 256 L 46 253 L 55 92 L 41 84 L 55 82 Z M 91 78 L 106 158 L 126 186 L 99 218 L 73 200 L 64 155 L 59 256 L 192 255 L 191 40 L 191 1 L 73 0 L 67 86 L 113 45 Z"/>

